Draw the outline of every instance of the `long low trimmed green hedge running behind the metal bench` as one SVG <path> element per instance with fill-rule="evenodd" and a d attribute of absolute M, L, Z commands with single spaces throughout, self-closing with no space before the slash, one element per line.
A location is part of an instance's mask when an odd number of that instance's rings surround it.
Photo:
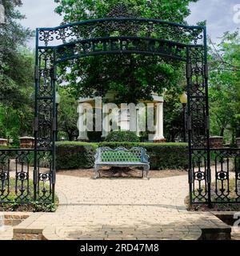
<path fill-rule="evenodd" d="M 188 149 L 186 143 L 150 143 L 150 142 L 57 142 L 56 167 L 61 169 L 92 168 L 94 154 L 98 146 L 116 148 L 124 146 L 142 146 L 150 156 L 150 168 L 186 169 L 188 166 Z"/>

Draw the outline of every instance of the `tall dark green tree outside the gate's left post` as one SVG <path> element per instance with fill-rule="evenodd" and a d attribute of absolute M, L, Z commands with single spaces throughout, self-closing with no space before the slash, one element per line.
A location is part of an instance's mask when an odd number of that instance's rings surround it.
<path fill-rule="evenodd" d="M 32 36 L 18 20 L 21 1 L 3 0 L 6 24 L 0 26 L 0 136 L 32 134 L 34 54 L 26 49 Z"/>

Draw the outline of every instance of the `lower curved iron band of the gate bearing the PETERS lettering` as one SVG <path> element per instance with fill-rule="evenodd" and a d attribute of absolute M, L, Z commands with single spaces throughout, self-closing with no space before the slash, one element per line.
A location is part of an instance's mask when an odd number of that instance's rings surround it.
<path fill-rule="evenodd" d="M 149 54 L 186 62 L 186 46 L 150 38 L 95 38 L 56 47 L 56 62 L 97 54 Z"/>

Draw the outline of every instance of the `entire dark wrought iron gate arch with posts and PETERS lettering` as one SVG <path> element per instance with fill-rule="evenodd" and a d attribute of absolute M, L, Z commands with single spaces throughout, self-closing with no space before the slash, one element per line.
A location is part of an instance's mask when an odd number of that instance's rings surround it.
<path fill-rule="evenodd" d="M 94 19 L 36 30 L 35 140 L 34 150 L 27 150 L 28 155 L 34 154 L 34 201 L 54 202 L 57 65 L 68 59 L 97 54 L 159 55 L 186 62 L 190 202 L 207 202 L 210 205 L 206 26 L 124 17 Z M 13 153 L 13 150 L 9 151 L 0 150 L 0 163 L 6 154 Z M 15 153 L 19 155 L 22 152 L 26 154 L 20 149 Z M 25 163 L 29 166 L 29 160 Z M 42 172 L 39 168 L 42 165 L 49 171 Z M 0 201 L 6 202 L 9 194 L 9 189 L 6 189 L 10 182 L 9 168 L 0 170 L 0 173 Z M 22 184 L 20 198 L 23 196 L 26 200 L 28 183 L 24 181 L 29 180 L 28 171 L 23 168 L 16 170 L 15 178 L 16 184 Z"/>

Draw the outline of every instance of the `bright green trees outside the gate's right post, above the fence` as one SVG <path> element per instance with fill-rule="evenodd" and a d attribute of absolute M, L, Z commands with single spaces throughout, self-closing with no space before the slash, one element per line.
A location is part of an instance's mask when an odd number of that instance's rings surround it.
<path fill-rule="evenodd" d="M 226 32 L 215 46 L 210 41 L 211 133 L 226 139 L 240 136 L 240 38 Z"/>

